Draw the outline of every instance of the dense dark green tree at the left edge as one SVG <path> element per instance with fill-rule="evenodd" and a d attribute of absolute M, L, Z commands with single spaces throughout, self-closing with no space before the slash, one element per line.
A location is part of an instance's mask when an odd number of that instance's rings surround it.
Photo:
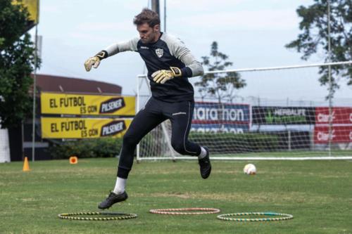
<path fill-rule="evenodd" d="M 0 0 L 0 123 L 15 126 L 30 117 L 34 45 L 27 28 L 28 12 L 22 4 Z M 38 65 L 37 65 L 38 67 Z"/>

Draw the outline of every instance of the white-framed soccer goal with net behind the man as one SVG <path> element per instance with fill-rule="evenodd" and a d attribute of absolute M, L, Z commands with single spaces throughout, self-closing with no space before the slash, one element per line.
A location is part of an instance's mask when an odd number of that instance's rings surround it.
<path fill-rule="evenodd" d="M 328 65 L 346 69 L 352 61 L 206 72 L 210 82 L 203 86 L 202 77 L 190 78 L 195 107 L 189 141 L 206 145 L 218 160 L 352 159 L 351 89 L 337 89 L 332 98 L 329 87 L 320 86 L 320 68 Z M 242 89 L 234 89 L 234 73 L 246 83 Z M 219 77 L 225 88 L 210 93 Z M 137 80 L 140 110 L 151 91 L 145 75 Z M 170 137 L 166 120 L 139 143 L 137 160 L 196 159 L 175 152 Z"/>

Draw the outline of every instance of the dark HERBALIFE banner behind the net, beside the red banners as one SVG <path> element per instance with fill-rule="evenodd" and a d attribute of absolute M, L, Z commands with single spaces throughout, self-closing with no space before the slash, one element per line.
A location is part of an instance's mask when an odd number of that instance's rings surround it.
<path fill-rule="evenodd" d="M 314 124 L 315 108 L 253 106 L 252 122 L 253 124 Z"/>

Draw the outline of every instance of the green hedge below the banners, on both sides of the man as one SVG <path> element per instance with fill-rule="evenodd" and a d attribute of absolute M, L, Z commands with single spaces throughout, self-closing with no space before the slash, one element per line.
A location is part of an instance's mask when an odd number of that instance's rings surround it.
<path fill-rule="evenodd" d="M 146 136 L 148 137 L 148 136 Z M 265 152 L 279 150 L 279 136 L 275 134 L 194 133 L 189 140 L 206 145 L 212 153 Z M 150 141 L 149 141 L 150 142 Z M 77 157 L 115 157 L 120 154 L 122 138 L 94 138 L 66 141 L 53 145 L 49 153 L 54 159 Z"/>

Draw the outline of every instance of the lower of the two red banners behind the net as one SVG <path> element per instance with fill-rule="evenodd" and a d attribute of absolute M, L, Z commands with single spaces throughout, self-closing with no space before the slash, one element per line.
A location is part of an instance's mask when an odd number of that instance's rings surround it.
<path fill-rule="evenodd" d="M 329 126 L 314 127 L 314 143 L 329 142 Z M 332 143 L 351 143 L 352 126 L 332 126 Z"/>

